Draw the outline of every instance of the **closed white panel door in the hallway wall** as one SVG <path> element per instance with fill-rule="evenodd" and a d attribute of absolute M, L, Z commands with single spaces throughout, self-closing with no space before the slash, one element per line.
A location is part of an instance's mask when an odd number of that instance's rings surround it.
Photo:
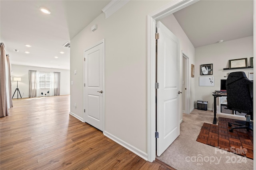
<path fill-rule="evenodd" d="M 104 41 L 84 51 L 84 119 L 103 131 Z"/>

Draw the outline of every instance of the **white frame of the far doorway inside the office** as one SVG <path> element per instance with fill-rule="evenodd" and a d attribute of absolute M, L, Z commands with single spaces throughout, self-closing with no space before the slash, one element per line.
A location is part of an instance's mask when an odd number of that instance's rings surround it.
<path fill-rule="evenodd" d="M 185 100 L 185 113 L 189 114 L 189 98 L 190 98 L 190 96 L 189 96 L 189 94 L 190 94 L 189 63 L 190 62 L 189 62 L 189 58 L 183 53 L 183 51 L 182 51 L 182 58 L 184 58 L 186 60 L 185 86 L 186 86 L 187 90 L 185 90 L 185 92 L 184 92 L 185 93 L 185 99 L 184 99 Z M 183 62 L 183 60 L 182 60 L 182 62 Z M 183 66 L 183 64 L 182 64 L 182 66 Z"/>

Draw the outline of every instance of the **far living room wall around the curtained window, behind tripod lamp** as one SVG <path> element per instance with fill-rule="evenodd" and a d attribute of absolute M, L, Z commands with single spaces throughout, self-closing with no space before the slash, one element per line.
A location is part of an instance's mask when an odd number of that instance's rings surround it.
<path fill-rule="evenodd" d="M 13 81 L 14 77 L 21 77 L 21 81 L 18 82 L 18 88 L 22 98 L 28 98 L 29 96 L 29 80 L 28 80 L 28 70 L 37 70 L 45 72 L 60 72 L 60 95 L 70 94 L 70 70 L 56 69 L 56 68 L 44 68 L 44 67 L 34 67 L 34 66 L 22 66 L 12 64 L 12 95 L 14 94 L 17 82 Z M 23 94 L 24 93 L 24 94 Z M 20 94 L 18 95 L 20 98 Z M 17 92 L 13 98 L 17 98 Z"/>

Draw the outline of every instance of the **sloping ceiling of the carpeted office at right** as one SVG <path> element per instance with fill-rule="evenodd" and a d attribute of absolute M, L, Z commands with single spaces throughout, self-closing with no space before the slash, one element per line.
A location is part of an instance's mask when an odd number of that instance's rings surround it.
<path fill-rule="evenodd" d="M 174 17 L 194 47 L 253 35 L 252 0 L 200 0 Z"/>

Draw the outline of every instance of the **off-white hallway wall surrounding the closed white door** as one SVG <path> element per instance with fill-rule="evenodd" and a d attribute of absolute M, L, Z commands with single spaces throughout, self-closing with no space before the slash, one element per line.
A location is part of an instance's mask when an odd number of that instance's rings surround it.
<path fill-rule="evenodd" d="M 105 39 L 105 133 L 147 158 L 147 15 L 170 1 L 129 1 L 71 40 L 70 113 L 83 120 L 84 49 Z M 91 31 L 92 25 L 98 29 Z M 74 70 L 77 74 L 74 75 Z"/>

